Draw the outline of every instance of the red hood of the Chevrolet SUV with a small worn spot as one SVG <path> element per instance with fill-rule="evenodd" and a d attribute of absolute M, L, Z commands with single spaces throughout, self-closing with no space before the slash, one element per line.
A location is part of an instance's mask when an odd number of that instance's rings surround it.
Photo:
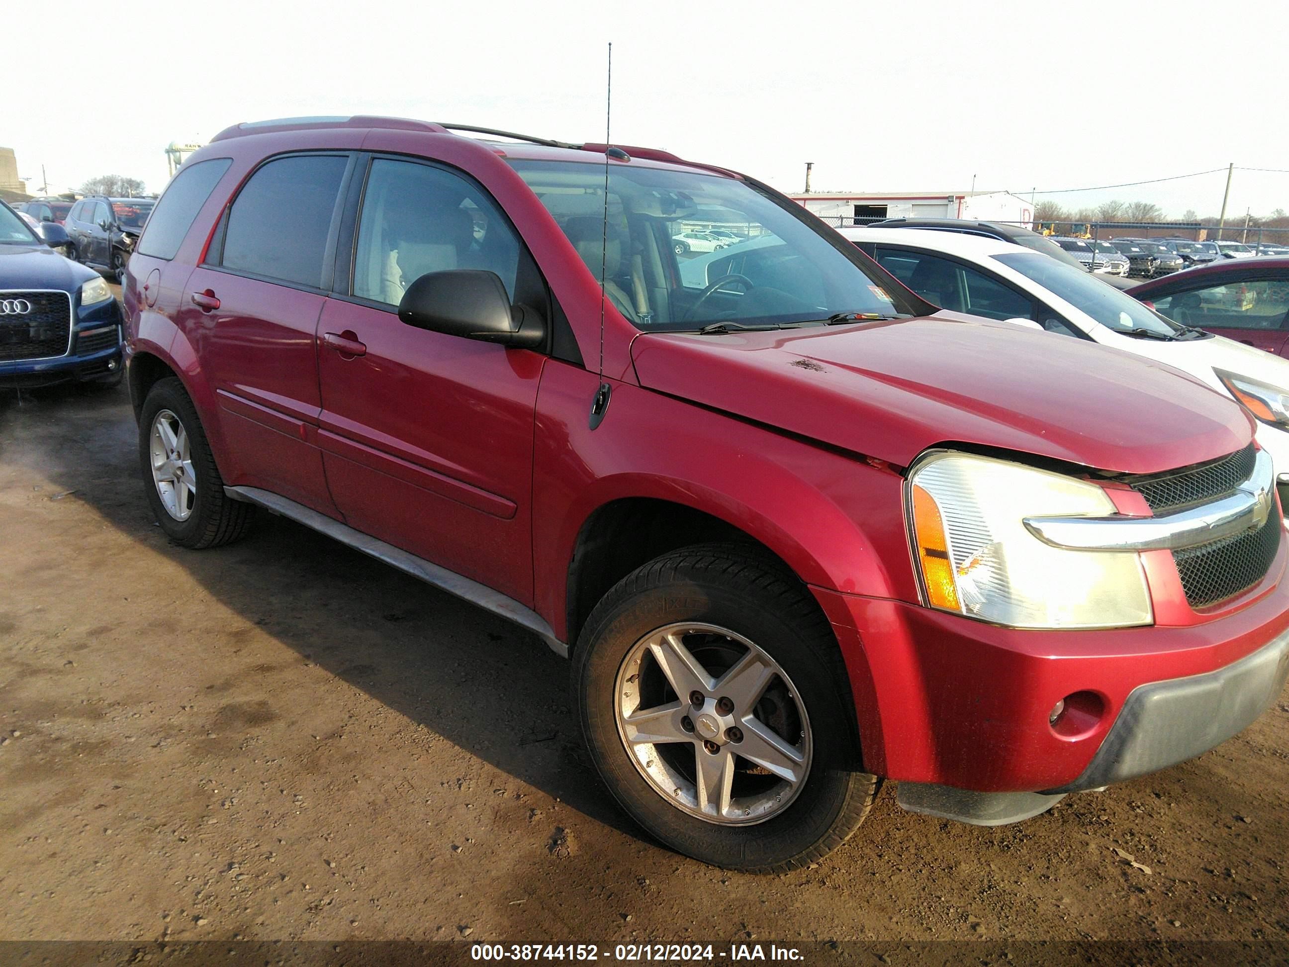
<path fill-rule="evenodd" d="M 646 333 L 632 355 L 644 387 L 901 467 L 959 442 L 1154 473 L 1253 437 L 1234 400 L 1169 366 L 947 312 L 844 327 Z"/>

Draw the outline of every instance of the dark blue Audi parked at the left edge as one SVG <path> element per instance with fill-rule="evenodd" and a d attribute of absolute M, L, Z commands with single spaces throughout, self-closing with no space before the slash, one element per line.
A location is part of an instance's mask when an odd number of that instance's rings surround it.
<path fill-rule="evenodd" d="M 0 201 L 0 388 L 121 380 L 121 307 L 103 277 L 63 258 Z"/>

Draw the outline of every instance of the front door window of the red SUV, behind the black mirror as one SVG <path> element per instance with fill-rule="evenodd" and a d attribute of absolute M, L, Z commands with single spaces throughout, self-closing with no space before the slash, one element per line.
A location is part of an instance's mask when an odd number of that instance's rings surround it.
<path fill-rule="evenodd" d="M 376 159 L 362 195 L 353 295 L 397 306 L 429 272 L 495 272 L 516 294 L 519 241 L 483 192 L 460 175 Z"/>

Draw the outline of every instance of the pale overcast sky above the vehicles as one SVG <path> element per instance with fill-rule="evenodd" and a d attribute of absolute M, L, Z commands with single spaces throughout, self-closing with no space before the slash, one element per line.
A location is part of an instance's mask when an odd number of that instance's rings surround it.
<path fill-rule="evenodd" d="M 165 146 L 244 120 L 387 113 L 612 137 L 800 191 L 1076 188 L 1289 169 L 1279 0 L 1136 4 L 10 0 L 0 144 L 52 190 L 166 181 Z M 76 24 L 82 24 L 77 27 Z M 98 24 L 94 30 L 89 24 Z M 59 54 L 22 40 L 57 32 Z M 35 36 L 35 35 L 34 35 Z M 1217 214 L 1225 170 L 1066 193 Z M 1040 196 L 1042 197 L 1042 196 Z M 1289 209 L 1236 170 L 1228 217 Z"/>

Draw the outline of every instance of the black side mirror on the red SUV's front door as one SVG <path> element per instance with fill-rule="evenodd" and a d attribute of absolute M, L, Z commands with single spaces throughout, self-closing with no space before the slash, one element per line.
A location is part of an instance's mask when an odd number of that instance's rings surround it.
<path fill-rule="evenodd" d="M 512 306 L 496 272 L 480 269 L 423 275 L 403 293 L 398 318 L 433 333 L 525 349 L 535 349 L 547 339 L 541 316 Z"/>

